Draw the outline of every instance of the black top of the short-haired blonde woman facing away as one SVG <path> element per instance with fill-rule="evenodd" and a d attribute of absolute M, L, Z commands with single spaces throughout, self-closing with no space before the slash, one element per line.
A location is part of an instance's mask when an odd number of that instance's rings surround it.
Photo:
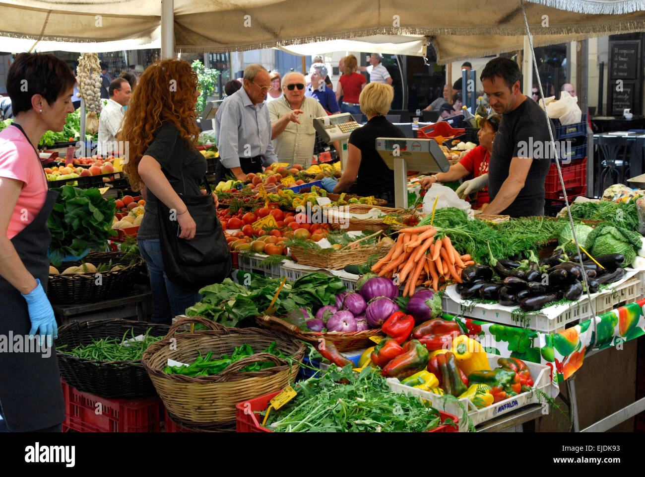
<path fill-rule="evenodd" d="M 394 171 L 388 167 L 376 151 L 376 138 L 404 138 L 401 128 L 389 122 L 385 116 L 374 116 L 363 127 L 354 129 L 349 143 L 361 149 L 361 165 L 357 180 L 358 194 L 380 195 L 381 191 L 394 191 Z"/>

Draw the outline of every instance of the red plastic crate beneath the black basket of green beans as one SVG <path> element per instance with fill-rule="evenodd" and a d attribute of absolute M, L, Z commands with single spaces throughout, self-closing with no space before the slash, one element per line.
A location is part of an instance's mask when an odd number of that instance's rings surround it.
<path fill-rule="evenodd" d="M 159 396 L 106 399 L 81 392 L 61 379 L 65 399 L 63 432 L 159 432 L 164 406 Z"/>

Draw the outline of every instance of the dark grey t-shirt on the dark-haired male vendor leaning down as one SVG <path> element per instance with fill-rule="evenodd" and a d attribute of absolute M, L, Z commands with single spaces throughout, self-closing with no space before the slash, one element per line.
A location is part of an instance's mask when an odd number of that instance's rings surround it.
<path fill-rule="evenodd" d="M 551 127 L 553 127 L 551 123 Z M 508 177 L 514 157 L 532 158 L 524 187 L 502 215 L 528 217 L 544 214 L 544 180 L 551 166 L 550 137 L 544 111 L 531 98 L 502 115 L 488 165 L 488 195 L 492 200 Z"/>

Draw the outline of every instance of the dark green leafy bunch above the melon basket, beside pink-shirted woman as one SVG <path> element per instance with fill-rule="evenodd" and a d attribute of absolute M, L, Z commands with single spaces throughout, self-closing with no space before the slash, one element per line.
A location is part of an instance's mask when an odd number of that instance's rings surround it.
<path fill-rule="evenodd" d="M 103 250 L 112 230 L 114 198 L 105 199 L 99 189 L 63 186 L 47 219 L 52 233 L 50 260 L 59 266 L 66 255 L 80 255 L 86 249 Z"/>

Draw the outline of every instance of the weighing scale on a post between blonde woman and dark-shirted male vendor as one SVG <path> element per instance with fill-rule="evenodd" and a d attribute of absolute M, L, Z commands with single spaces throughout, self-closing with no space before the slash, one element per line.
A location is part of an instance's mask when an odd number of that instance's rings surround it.
<path fill-rule="evenodd" d="M 448 172 L 450 162 L 434 139 L 377 138 L 376 150 L 394 171 L 394 206 L 408 208 L 408 171 Z"/>

